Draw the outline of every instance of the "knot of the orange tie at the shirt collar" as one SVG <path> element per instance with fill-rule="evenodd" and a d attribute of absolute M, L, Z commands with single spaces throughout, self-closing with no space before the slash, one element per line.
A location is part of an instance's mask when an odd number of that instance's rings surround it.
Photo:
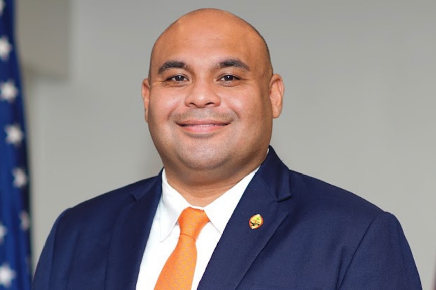
<path fill-rule="evenodd" d="M 204 210 L 192 207 L 185 208 L 179 216 L 180 234 L 185 234 L 197 240 L 200 231 L 209 221 Z"/>

